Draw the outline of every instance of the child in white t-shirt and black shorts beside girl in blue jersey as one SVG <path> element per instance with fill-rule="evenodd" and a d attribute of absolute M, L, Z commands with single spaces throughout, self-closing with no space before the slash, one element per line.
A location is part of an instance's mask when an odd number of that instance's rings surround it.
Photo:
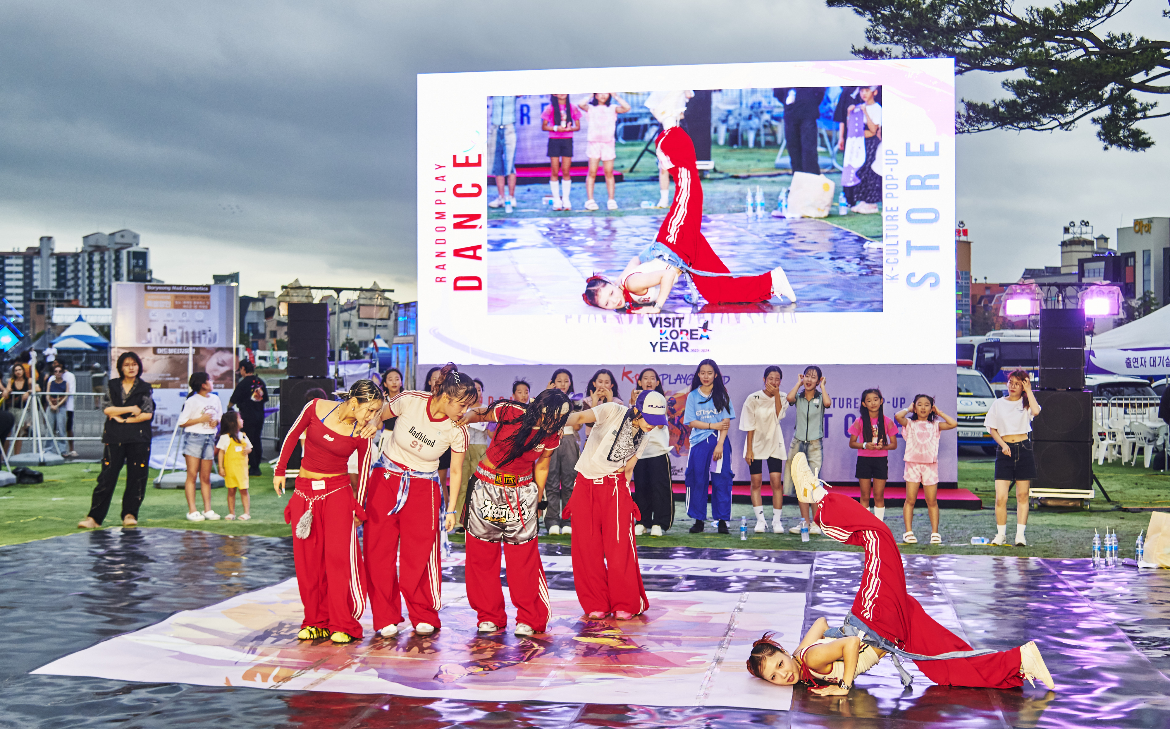
<path fill-rule="evenodd" d="M 768 531 L 764 522 L 764 461 L 768 461 L 768 480 L 772 487 L 772 532 L 782 534 L 784 523 L 780 511 L 784 507 L 784 461 L 787 452 L 784 449 L 784 433 L 780 420 L 789 412 L 789 400 L 780 391 L 784 372 L 776 365 L 764 370 L 764 388 L 758 390 L 743 403 L 743 420 L 739 429 L 748 432 L 743 443 L 743 458 L 748 461 L 748 473 L 751 474 L 751 508 L 756 513 L 756 532 Z M 636 481 L 635 481 L 636 483 Z"/>

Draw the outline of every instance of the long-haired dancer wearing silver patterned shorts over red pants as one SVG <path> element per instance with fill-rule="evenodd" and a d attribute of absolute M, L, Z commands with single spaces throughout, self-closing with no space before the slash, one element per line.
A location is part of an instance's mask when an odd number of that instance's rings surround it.
<path fill-rule="evenodd" d="M 508 591 L 516 606 L 516 634 L 543 633 L 552 617 L 549 585 L 537 550 L 539 511 L 549 460 L 569 420 L 569 396 L 556 387 L 531 403 L 501 400 L 468 411 L 461 422 L 496 422 L 496 436 L 475 468 L 467 498 L 467 601 L 481 633 L 508 625 L 500 582 L 501 543 Z M 512 503 L 515 502 L 515 503 Z"/>

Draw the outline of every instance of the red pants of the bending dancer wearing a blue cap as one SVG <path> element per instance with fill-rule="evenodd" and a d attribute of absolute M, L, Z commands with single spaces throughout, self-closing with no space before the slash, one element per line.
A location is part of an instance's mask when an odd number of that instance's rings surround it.
<path fill-rule="evenodd" d="M 565 511 L 573 528 L 573 584 L 581 608 L 586 613 L 646 612 L 649 599 L 634 543 L 638 507 L 626 474 L 604 479 L 577 474 Z"/>

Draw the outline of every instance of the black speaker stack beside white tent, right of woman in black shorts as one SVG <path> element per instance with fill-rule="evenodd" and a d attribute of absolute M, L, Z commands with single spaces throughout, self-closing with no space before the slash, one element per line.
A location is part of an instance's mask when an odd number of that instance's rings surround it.
<path fill-rule="evenodd" d="M 1093 394 L 1085 391 L 1085 310 L 1040 310 L 1040 377 L 1032 392 L 1037 479 L 1031 495 L 1082 500 L 1093 495 Z"/>

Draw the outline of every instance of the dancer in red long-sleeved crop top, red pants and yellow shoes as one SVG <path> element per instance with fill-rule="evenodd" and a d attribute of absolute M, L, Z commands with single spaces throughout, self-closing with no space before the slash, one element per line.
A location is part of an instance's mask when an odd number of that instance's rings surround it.
<path fill-rule="evenodd" d="M 370 439 L 360 431 L 381 412 L 381 390 L 359 379 L 342 403 L 310 400 L 284 436 L 273 472 L 273 487 L 284 494 L 284 469 L 304 433 L 301 470 L 284 521 L 292 524 L 292 559 L 304 620 L 297 638 L 351 642 L 362 638 L 358 618 L 366 587 L 358 551 L 358 523 L 370 473 Z M 358 493 L 350 488 L 346 463 L 358 453 Z"/>

